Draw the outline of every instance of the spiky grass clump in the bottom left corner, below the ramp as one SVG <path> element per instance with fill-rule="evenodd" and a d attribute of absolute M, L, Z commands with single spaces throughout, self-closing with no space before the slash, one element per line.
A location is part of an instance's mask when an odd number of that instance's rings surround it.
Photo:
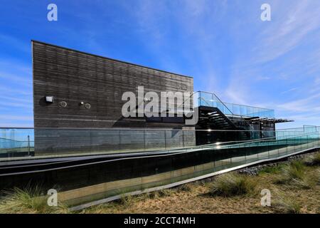
<path fill-rule="evenodd" d="M 4 195 L 1 197 L 0 213 L 46 214 L 68 210 L 63 204 L 58 207 L 48 206 L 48 196 L 44 195 L 41 187 L 38 186 L 25 189 L 14 188 L 14 190 L 4 192 Z"/>

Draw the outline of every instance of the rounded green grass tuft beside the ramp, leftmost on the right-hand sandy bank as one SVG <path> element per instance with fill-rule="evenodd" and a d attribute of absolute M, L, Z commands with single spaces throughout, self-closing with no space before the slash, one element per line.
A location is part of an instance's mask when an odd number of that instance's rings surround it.
<path fill-rule="evenodd" d="M 247 195 L 254 192 L 257 183 L 252 177 L 227 173 L 220 175 L 213 182 L 210 195 L 230 197 L 234 195 Z"/>

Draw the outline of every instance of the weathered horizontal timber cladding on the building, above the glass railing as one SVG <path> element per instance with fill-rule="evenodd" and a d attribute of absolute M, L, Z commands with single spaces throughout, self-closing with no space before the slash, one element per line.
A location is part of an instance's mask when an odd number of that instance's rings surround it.
<path fill-rule="evenodd" d="M 122 93 L 137 94 L 138 86 L 145 92 L 192 93 L 193 78 L 33 41 L 35 128 L 183 127 L 124 120 Z M 55 102 L 45 103 L 46 95 L 53 95 Z M 67 107 L 60 107 L 60 101 Z M 91 108 L 79 105 L 81 101 Z"/>

